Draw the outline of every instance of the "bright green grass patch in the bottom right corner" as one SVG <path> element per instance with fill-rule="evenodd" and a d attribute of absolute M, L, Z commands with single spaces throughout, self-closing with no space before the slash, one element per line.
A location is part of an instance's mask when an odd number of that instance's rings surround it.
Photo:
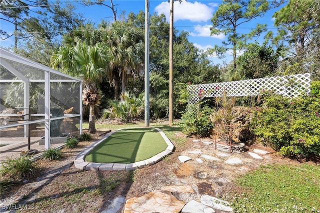
<path fill-rule="evenodd" d="M 320 166 L 264 165 L 240 176 L 232 192 L 236 212 L 318 212 Z M 239 192 L 241 191 L 241 192 Z"/>

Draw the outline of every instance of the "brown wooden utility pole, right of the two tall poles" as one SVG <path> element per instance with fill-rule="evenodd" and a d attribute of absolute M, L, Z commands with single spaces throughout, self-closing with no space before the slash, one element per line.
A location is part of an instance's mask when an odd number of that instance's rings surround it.
<path fill-rule="evenodd" d="M 173 0 L 170 0 L 169 28 L 169 125 L 173 123 Z"/>

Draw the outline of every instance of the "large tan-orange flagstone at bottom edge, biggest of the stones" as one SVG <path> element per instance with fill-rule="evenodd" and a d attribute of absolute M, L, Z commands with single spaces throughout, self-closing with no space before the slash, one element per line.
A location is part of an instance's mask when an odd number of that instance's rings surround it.
<path fill-rule="evenodd" d="M 124 205 L 124 213 L 180 212 L 184 202 L 169 191 L 154 190 L 140 197 L 129 198 Z"/>

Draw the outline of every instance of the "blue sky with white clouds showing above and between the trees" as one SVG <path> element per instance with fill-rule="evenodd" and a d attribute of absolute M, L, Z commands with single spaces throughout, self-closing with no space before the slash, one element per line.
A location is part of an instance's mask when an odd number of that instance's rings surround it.
<path fill-rule="evenodd" d="M 93 1 L 93 0 L 92 0 Z M 54 3 L 54 1 L 51 1 Z M 213 13 L 218 8 L 218 5 L 222 0 L 182 0 L 181 3 L 178 1 L 174 2 L 174 27 L 178 30 L 184 30 L 189 32 L 189 41 L 192 42 L 195 46 L 200 49 L 207 49 L 215 44 L 221 45 L 221 42 L 226 39 L 223 34 L 219 35 L 210 35 L 210 26 L 212 25 L 211 17 Z M 106 6 L 92 5 L 92 6 L 83 6 L 77 3 L 74 0 L 61 0 L 60 3 L 72 3 L 77 7 L 78 12 L 81 12 L 84 17 L 88 20 L 99 23 L 101 19 L 106 19 L 112 21 L 112 12 Z M 105 0 L 106 4 L 110 5 L 109 0 Z M 145 1 L 144 0 L 113 0 L 113 4 L 117 4 L 117 16 L 122 12 L 128 14 L 129 12 L 138 13 L 139 10 L 144 11 Z M 169 2 L 168 0 L 149 0 L 149 12 L 150 14 L 164 13 L 167 21 L 169 20 Z M 273 26 L 272 15 L 274 11 L 279 8 L 269 10 L 263 17 L 253 19 L 250 22 L 247 22 L 240 26 L 239 30 L 247 33 L 249 32 L 256 23 L 266 23 L 269 30 L 275 31 Z M 0 21 L 1 29 L 6 31 L 13 31 L 12 28 L 7 26 L 3 21 Z M 256 38 L 258 42 L 263 42 L 263 34 Z M 8 46 L 12 44 L 12 40 L 2 40 L 0 39 L 1 46 Z M 222 63 L 223 61 L 229 62 L 232 59 L 231 52 L 227 52 L 225 58 L 218 59 L 213 56 L 213 63 Z"/>

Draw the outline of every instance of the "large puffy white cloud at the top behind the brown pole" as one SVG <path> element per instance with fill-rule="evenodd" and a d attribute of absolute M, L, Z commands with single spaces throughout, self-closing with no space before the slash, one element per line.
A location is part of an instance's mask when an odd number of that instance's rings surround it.
<path fill-rule="evenodd" d="M 173 6 L 174 21 L 177 21 L 177 20 L 189 20 L 192 22 L 207 21 L 212 17 L 212 14 L 213 14 L 212 7 L 197 1 L 194 1 L 194 2 L 182 1 L 181 3 L 174 2 L 173 5 L 174 5 Z M 157 14 L 163 13 L 166 19 L 169 20 L 170 4 L 168 1 L 161 2 L 154 8 L 154 10 Z"/>

